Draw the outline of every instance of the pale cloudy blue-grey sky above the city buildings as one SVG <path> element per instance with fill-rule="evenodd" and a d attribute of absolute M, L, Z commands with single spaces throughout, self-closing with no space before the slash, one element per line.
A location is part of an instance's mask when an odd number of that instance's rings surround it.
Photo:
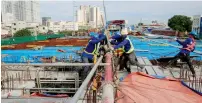
<path fill-rule="evenodd" d="M 40 1 L 41 17 L 53 20 L 73 20 L 73 1 Z M 75 1 L 75 10 L 80 5 L 99 6 L 101 1 Z M 192 16 L 202 14 L 202 1 L 105 1 L 107 20 L 125 19 L 129 24 L 152 20 L 167 23 L 173 15 Z"/>

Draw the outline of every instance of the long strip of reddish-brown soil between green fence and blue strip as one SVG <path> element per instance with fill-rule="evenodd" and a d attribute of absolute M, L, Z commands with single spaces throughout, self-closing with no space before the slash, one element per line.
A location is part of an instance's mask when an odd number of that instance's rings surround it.
<path fill-rule="evenodd" d="M 9 46 L 1 46 L 2 50 L 6 49 L 29 49 L 35 46 L 86 46 L 88 39 L 86 38 L 68 38 L 68 39 L 49 39 L 45 41 L 36 41 L 23 44 L 15 44 Z"/>

